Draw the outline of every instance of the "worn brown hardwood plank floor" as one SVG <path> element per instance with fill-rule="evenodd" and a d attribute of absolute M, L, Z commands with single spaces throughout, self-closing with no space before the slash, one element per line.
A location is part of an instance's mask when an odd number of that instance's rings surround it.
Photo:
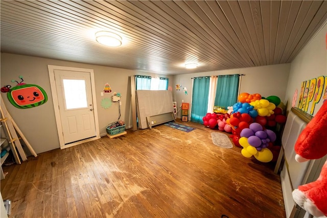
<path fill-rule="evenodd" d="M 183 124 L 196 130 L 128 130 L 5 166 L 9 217 L 285 217 L 272 163 L 215 146 L 217 130 Z"/>

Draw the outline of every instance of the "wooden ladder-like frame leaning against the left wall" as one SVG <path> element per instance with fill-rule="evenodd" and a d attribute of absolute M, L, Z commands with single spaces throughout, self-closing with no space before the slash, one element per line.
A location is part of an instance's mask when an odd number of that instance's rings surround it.
<path fill-rule="evenodd" d="M 34 155 L 34 157 L 37 156 L 37 154 L 35 153 L 34 149 L 32 148 L 31 144 L 27 141 L 26 137 L 24 136 L 24 134 L 22 134 L 22 132 L 20 131 L 20 129 L 18 128 L 17 124 L 14 122 L 13 118 L 11 117 L 11 115 L 9 114 L 9 112 L 7 111 L 7 108 L 5 106 L 5 103 L 1 97 L 1 105 L 0 105 L 0 110 L 1 110 L 1 122 L 4 124 L 5 126 L 5 132 L 7 134 L 7 136 L 9 137 L 9 143 L 10 143 L 10 148 L 12 150 L 12 153 L 14 155 L 14 158 L 16 160 L 17 164 L 20 164 L 20 158 L 22 161 L 27 160 L 26 154 L 24 149 L 21 146 L 21 143 L 19 141 L 18 135 L 21 137 L 22 140 L 24 140 L 27 148 L 30 150 L 31 154 Z M 18 156 L 18 153 L 19 156 Z"/>

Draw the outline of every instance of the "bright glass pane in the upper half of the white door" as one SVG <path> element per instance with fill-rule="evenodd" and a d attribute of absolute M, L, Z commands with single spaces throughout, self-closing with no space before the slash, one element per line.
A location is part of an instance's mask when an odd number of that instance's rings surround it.
<path fill-rule="evenodd" d="M 63 79 L 66 109 L 87 107 L 86 87 L 84 80 Z"/>

